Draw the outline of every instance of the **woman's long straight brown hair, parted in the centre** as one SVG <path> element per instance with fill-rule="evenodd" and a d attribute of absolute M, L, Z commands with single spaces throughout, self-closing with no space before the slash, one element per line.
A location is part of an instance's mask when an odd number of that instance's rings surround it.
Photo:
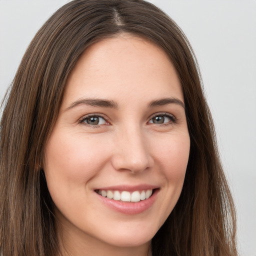
<path fill-rule="evenodd" d="M 0 122 L 0 255 L 56 255 L 54 204 L 40 168 L 45 141 L 79 56 L 90 44 L 122 32 L 156 43 L 169 56 L 182 85 L 190 135 L 183 189 L 152 239 L 152 254 L 237 255 L 234 205 L 196 58 L 175 22 L 143 0 L 73 0 L 28 46 Z"/>

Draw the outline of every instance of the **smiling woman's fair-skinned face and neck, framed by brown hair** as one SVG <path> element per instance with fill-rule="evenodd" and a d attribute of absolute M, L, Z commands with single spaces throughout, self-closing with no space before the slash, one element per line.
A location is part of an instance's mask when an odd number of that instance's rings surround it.
<path fill-rule="evenodd" d="M 63 255 L 148 255 L 183 185 L 190 146 L 183 102 L 167 55 L 142 38 L 107 38 L 82 54 L 43 162 Z M 111 199 L 103 190 L 142 197 Z"/>

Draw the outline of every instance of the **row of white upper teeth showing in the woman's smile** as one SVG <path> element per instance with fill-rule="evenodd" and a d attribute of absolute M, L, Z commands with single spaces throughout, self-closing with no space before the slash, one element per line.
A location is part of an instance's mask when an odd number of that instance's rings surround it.
<path fill-rule="evenodd" d="M 118 190 L 98 190 L 98 194 L 109 199 L 121 200 L 125 202 L 138 202 L 147 199 L 152 194 L 152 189 L 141 191 L 118 191 Z"/>

